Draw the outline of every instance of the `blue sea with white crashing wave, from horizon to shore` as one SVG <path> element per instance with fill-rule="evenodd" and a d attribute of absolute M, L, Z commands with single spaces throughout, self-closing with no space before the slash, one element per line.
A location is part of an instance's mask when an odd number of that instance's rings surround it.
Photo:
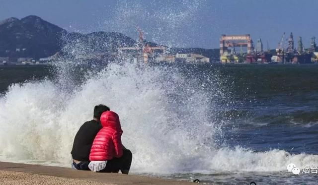
<path fill-rule="evenodd" d="M 318 65 L 60 62 L 0 76 L 1 161 L 70 167 L 79 126 L 103 103 L 120 116 L 133 174 L 317 184 L 302 167 L 318 167 Z"/>

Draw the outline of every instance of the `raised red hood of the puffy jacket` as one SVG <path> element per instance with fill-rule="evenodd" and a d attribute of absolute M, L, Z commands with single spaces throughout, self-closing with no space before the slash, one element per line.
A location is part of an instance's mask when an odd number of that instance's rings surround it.
<path fill-rule="evenodd" d="M 123 132 L 120 126 L 119 116 L 115 112 L 103 112 L 100 116 L 100 123 L 103 127 L 111 127 L 120 133 Z"/>

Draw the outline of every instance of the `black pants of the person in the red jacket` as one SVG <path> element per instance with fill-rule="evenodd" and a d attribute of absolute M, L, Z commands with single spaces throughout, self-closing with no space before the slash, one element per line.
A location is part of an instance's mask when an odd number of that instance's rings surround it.
<path fill-rule="evenodd" d="M 123 171 L 129 171 L 132 159 L 133 154 L 131 153 L 131 151 L 123 149 L 123 155 L 120 158 L 113 158 L 111 160 L 108 160 L 106 167 L 99 172 L 118 173 L 120 170 L 123 173 Z"/>

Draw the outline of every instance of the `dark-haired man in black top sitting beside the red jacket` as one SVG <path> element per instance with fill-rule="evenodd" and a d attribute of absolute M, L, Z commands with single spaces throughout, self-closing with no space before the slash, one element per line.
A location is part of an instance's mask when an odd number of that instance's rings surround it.
<path fill-rule="evenodd" d="M 97 132 L 102 128 L 100 124 L 100 116 L 103 112 L 110 109 L 105 105 L 96 105 L 94 107 L 93 120 L 85 122 L 80 126 L 76 133 L 72 148 L 72 168 L 77 170 L 89 170 L 89 153 L 93 140 Z"/>

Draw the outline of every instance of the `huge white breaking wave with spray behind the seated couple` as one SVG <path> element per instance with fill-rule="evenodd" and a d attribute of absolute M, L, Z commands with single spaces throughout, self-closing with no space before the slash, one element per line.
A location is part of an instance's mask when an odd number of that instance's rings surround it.
<path fill-rule="evenodd" d="M 229 119 L 213 119 L 221 111 L 218 76 L 205 85 L 186 76 L 127 62 L 87 72 L 74 86 L 70 78 L 13 84 L 0 98 L 1 160 L 69 166 L 79 126 L 103 103 L 120 115 L 133 173 L 271 172 L 289 163 L 318 164 L 317 155 L 228 147 L 222 135 Z"/>

